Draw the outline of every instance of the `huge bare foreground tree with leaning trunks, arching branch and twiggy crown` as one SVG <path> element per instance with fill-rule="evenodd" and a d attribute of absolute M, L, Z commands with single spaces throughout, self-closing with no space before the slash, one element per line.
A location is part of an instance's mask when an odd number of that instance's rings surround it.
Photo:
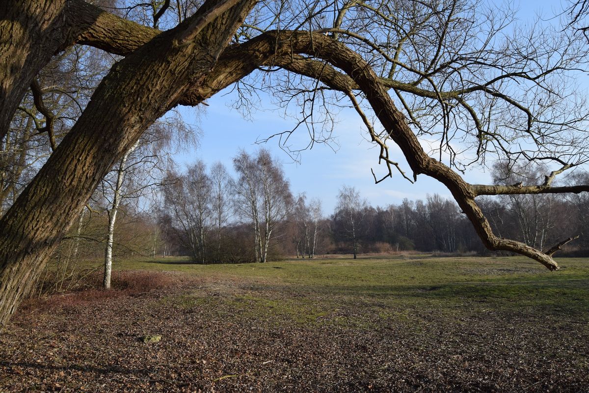
<path fill-rule="evenodd" d="M 587 109 L 574 91 L 587 45 L 561 27 L 510 35 L 509 12 L 468 0 L 207 0 L 193 13 L 176 9 L 181 22 L 163 32 L 82 0 L 8 0 L 0 16 L 0 140 L 52 55 L 83 44 L 124 57 L 0 220 L 2 324 L 98 182 L 147 127 L 176 105 L 203 103 L 254 71 L 284 70 L 276 85 L 264 78 L 262 88 L 301 105 L 300 124 L 309 126 L 312 142 L 330 131 L 315 127 L 318 118 L 332 118 L 329 100 L 348 98 L 378 146 L 380 180 L 399 169 L 411 181 L 419 174 L 441 181 L 489 249 L 557 269 L 551 253 L 496 236 L 475 198 L 589 190 L 552 186 L 558 174 L 587 160 Z M 302 75 L 303 84 L 289 75 Z M 425 136 L 439 146 L 435 158 L 423 150 L 418 137 Z M 454 142 L 472 147 L 474 156 L 456 154 Z M 412 176 L 393 161 L 392 144 Z M 541 184 L 525 187 L 469 184 L 459 175 L 469 163 L 494 157 L 552 167 Z"/>

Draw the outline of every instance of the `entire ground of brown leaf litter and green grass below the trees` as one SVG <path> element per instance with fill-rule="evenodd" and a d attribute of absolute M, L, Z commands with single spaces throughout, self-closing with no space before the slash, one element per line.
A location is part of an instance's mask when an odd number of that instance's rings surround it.
<path fill-rule="evenodd" d="M 121 263 L 139 287 L 16 313 L 0 391 L 587 392 L 589 263 L 558 262 Z"/>

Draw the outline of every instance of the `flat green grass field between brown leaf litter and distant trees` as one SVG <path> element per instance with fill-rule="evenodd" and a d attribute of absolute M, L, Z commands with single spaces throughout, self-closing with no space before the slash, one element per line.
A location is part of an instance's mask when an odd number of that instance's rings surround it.
<path fill-rule="evenodd" d="M 118 269 L 177 271 L 213 280 L 245 279 L 252 289 L 288 288 L 288 293 L 323 295 L 316 306 L 326 309 L 363 300 L 382 308 L 426 306 L 446 313 L 492 308 L 535 311 L 544 316 L 589 316 L 589 260 L 585 259 L 561 259 L 561 270 L 555 273 L 523 257 L 342 257 L 241 265 L 187 262 L 134 260 L 120 263 Z M 299 297 L 282 300 L 300 304 Z"/>

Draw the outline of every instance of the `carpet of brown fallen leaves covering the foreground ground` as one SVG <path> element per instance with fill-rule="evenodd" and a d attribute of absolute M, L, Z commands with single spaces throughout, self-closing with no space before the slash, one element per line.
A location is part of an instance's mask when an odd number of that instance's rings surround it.
<path fill-rule="evenodd" d="M 199 284 L 53 309 L 51 315 L 17 315 L 0 345 L 0 391 L 580 392 L 589 387 L 586 313 L 560 315 L 558 323 L 566 329 L 558 330 L 551 328 L 556 317 L 515 306 L 411 308 L 402 299 L 391 306 L 353 293 L 336 300 L 309 290 L 302 295 L 294 286 Z M 332 311 L 319 322 L 305 322 L 274 306 L 260 318 L 249 309 L 260 299 L 271 305 L 299 299 L 330 305 L 319 309 Z M 158 336 L 165 339 L 155 344 Z"/>

